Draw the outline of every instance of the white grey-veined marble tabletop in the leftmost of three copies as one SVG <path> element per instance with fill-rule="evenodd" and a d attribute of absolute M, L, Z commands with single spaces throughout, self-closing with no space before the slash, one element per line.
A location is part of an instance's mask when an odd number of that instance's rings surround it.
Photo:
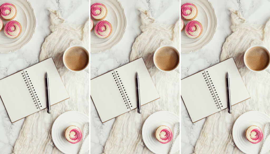
<path fill-rule="evenodd" d="M 12 1 L 12 0 L 11 0 Z M 50 35 L 48 7 L 60 11 L 67 23 L 84 24 L 89 19 L 89 0 L 28 0 L 36 16 L 36 30 L 22 49 L 13 53 L 0 53 L 0 79 L 39 62 L 41 45 Z M 1 3 L 1 1 L 0 1 Z M 0 45 L 1 46 L 1 45 Z M 0 100 L 0 153 L 10 154 L 25 118 L 11 124 Z"/>

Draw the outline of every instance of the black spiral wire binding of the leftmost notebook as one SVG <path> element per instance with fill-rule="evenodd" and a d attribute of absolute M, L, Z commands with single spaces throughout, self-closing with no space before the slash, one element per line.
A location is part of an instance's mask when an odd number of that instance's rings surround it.
<path fill-rule="evenodd" d="M 22 75 L 23 75 L 23 79 L 25 79 L 24 81 L 26 83 L 26 86 L 27 86 L 27 88 L 29 90 L 29 93 L 31 94 L 31 97 L 32 97 L 36 107 L 39 108 L 39 105 L 40 105 L 39 98 L 38 98 L 38 95 L 35 92 L 35 89 L 34 89 L 34 87 L 32 85 L 32 82 L 30 80 L 30 77 L 28 76 L 27 71 L 25 71 L 25 72 L 23 71 Z M 40 107 L 42 107 L 42 106 L 40 105 Z"/>

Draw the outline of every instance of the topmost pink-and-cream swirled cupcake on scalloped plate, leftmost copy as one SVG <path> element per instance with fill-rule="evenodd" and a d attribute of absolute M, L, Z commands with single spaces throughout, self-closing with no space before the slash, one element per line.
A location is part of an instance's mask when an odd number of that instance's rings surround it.
<path fill-rule="evenodd" d="M 4 20 L 12 20 L 17 15 L 17 9 L 13 4 L 4 3 L 0 6 L 0 16 Z"/>

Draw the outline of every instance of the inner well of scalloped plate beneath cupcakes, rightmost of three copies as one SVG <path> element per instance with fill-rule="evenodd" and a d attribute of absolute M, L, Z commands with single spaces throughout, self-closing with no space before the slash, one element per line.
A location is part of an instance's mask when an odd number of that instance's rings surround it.
<path fill-rule="evenodd" d="M 194 5 L 197 6 L 198 15 L 197 15 L 197 17 L 194 20 L 197 20 L 203 26 L 203 33 L 197 39 L 192 39 L 192 38 L 188 37 L 185 34 L 185 30 L 183 30 L 181 32 L 181 44 L 183 44 L 183 45 L 190 45 L 190 44 L 193 44 L 193 43 L 198 42 L 199 40 L 203 39 L 204 35 L 207 33 L 207 29 L 208 29 L 208 16 L 207 16 L 207 13 L 205 12 L 205 10 L 203 9 L 203 7 L 201 7 L 201 5 L 199 5 L 198 3 L 195 3 L 195 2 L 192 2 L 192 1 L 181 1 L 181 5 L 183 5 L 185 3 L 192 3 L 192 4 L 194 4 Z M 190 21 L 187 21 L 185 19 L 183 19 L 183 21 L 185 23 L 185 26 L 187 25 L 188 22 L 190 22 Z"/>

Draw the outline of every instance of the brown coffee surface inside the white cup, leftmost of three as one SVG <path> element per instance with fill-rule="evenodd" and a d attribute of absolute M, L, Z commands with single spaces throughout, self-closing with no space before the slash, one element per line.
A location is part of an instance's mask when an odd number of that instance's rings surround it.
<path fill-rule="evenodd" d="M 89 63 L 87 52 L 80 47 L 72 47 L 65 54 L 65 64 L 73 71 L 84 69 Z"/>

